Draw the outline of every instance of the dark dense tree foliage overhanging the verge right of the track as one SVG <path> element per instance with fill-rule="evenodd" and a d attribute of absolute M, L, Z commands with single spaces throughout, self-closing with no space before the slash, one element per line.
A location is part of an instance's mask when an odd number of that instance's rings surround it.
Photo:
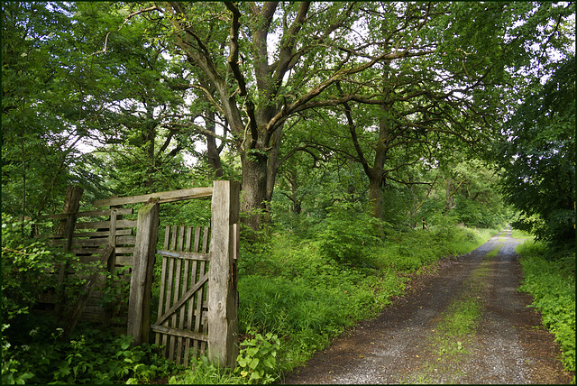
<path fill-rule="evenodd" d="M 574 243 L 575 58 L 554 72 L 504 124 L 496 143 L 502 190 L 520 212 L 512 225 L 540 240 Z"/>

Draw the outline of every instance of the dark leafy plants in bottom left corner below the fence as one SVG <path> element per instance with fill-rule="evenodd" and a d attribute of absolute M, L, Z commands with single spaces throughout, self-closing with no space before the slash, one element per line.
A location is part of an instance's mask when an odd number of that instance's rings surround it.
<path fill-rule="evenodd" d="M 34 322 L 38 321 L 35 318 Z M 85 327 L 67 342 L 61 339 L 61 328 L 54 331 L 37 326 L 27 335 L 17 336 L 11 327 L 4 325 L 3 329 L 7 329 L 3 334 L 3 384 L 147 383 L 179 370 L 156 345 L 130 348 L 132 337 L 127 335 L 114 337 Z"/>

